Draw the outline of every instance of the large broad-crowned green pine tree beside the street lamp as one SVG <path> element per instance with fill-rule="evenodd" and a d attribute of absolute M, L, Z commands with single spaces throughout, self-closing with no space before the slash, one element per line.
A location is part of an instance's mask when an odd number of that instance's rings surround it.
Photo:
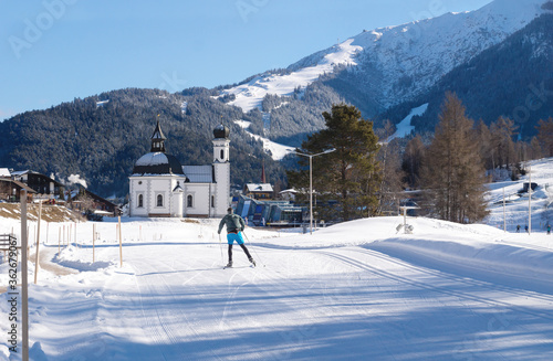
<path fill-rule="evenodd" d="M 317 200 L 337 201 L 335 206 L 317 209 L 320 219 L 352 220 L 373 215 L 378 206 L 379 168 L 376 160 L 378 137 L 373 123 L 365 120 L 354 106 L 333 105 L 332 113 L 324 112 L 326 128 L 311 136 L 298 152 L 316 155 L 313 158 L 313 189 Z M 299 157 L 301 166 L 309 164 L 306 157 Z M 290 184 L 309 188 L 309 168 L 288 171 Z M 333 202 L 334 203 L 334 202 Z"/>

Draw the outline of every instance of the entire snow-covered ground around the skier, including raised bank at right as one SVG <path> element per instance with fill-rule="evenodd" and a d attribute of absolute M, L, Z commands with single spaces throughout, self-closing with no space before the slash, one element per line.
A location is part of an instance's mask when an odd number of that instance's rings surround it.
<path fill-rule="evenodd" d="M 551 164 L 531 162 L 535 194 L 553 181 Z M 407 217 L 414 232 L 404 234 L 404 217 L 390 216 L 313 235 L 248 227 L 257 268 L 234 247 L 234 268 L 222 269 L 218 220 L 123 217 L 123 266 L 116 222 L 95 223 L 95 262 L 94 223 L 77 224 L 69 246 L 59 234 L 70 223 L 43 224 L 31 359 L 550 360 L 553 235 L 539 221 L 547 192 L 532 201 L 531 235 L 498 229 L 493 201 L 524 181 L 490 184 L 491 226 Z M 518 202 L 504 212 L 513 222 L 524 220 Z M 18 226 L 2 219 L 0 233 Z M 3 335 L 9 307 L 1 294 Z M 0 360 L 10 360 L 4 343 Z"/>

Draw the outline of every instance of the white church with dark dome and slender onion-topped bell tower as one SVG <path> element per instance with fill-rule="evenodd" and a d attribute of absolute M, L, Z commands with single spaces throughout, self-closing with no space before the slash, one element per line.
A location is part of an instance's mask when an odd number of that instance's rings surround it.
<path fill-rule="evenodd" d="M 149 217 L 221 217 L 230 204 L 229 128 L 213 129 L 213 163 L 181 166 L 165 153 L 159 120 L 152 149 L 140 157 L 129 179 L 129 215 Z"/>

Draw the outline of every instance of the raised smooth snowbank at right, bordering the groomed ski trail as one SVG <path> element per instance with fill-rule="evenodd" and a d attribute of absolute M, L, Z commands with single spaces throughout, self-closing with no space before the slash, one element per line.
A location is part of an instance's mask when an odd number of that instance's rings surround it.
<path fill-rule="evenodd" d="M 483 280 L 553 287 L 553 235 L 510 234 L 487 225 L 408 219 L 414 234 L 397 226 L 403 217 L 367 219 L 320 230 L 316 237 L 284 238 L 267 247 L 326 248 L 362 246 L 409 263 Z"/>

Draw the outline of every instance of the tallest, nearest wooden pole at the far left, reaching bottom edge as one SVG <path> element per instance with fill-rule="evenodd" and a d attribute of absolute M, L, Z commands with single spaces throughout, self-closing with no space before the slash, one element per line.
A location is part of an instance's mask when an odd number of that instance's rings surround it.
<path fill-rule="evenodd" d="M 22 360 L 29 361 L 29 273 L 27 265 L 27 246 L 29 244 L 27 229 L 27 191 L 22 189 L 19 193 L 21 201 L 21 330 L 23 342 Z"/>

